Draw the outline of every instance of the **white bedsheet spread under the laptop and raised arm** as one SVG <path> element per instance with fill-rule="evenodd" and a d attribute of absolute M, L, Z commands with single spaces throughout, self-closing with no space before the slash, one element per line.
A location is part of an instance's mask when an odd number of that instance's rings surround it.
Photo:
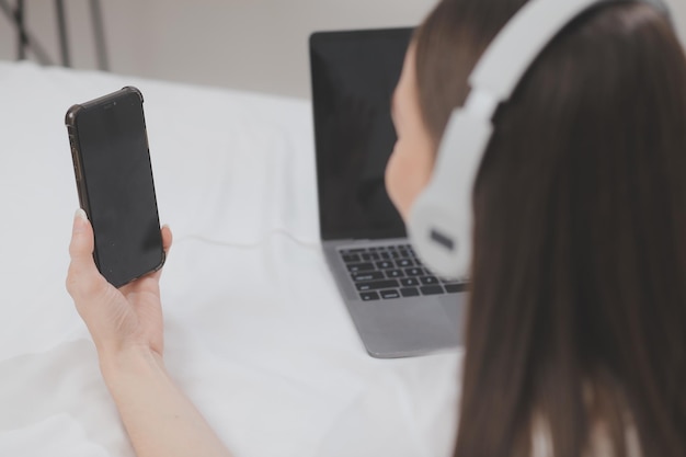
<path fill-rule="evenodd" d="M 378 361 L 318 244 L 309 103 L 0 61 L 0 456 L 133 456 L 64 286 L 64 115 L 145 96 L 165 359 L 237 457 L 448 456 L 460 354 Z"/>

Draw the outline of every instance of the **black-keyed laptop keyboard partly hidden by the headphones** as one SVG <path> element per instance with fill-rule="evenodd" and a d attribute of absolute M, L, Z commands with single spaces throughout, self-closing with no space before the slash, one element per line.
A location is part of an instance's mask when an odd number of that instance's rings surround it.
<path fill-rule="evenodd" d="M 364 301 L 457 294 L 467 289 L 466 279 L 447 281 L 432 274 L 409 244 L 342 249 L 339 253 Z"/>

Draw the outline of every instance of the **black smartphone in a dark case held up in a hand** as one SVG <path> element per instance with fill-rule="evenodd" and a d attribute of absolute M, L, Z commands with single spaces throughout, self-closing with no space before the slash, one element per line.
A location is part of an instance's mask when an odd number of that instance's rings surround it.
<path fill-rule="evenodd" d="M 133 87 L 67 111 L 81 208 L 102 275 L 121 287 L 164 264 L 142 94 Z"/>

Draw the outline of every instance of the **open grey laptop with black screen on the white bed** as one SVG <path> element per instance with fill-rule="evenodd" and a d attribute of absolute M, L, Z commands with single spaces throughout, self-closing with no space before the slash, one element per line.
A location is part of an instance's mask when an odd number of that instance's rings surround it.
<path fill-rule="evenodd" d="M 396 142 L 390 101 L 412 32 L 318 32 L 309 41 L 322 249 L 379 358 L 462 341 L 467 283 L 436 277 L 415 256 L 384 182 Z"/>

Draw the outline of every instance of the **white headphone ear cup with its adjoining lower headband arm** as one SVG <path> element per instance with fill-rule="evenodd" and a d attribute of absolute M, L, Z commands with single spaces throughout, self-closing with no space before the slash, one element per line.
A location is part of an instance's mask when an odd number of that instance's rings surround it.
<path fill-rule="evenodd" d="M 471 197 L 493 130 L 490 119 L 455 110 L 438 148 L 431 182 L 414 202 L 408 233 L 435 274 L 465 277 L 471 266 Z"/>

